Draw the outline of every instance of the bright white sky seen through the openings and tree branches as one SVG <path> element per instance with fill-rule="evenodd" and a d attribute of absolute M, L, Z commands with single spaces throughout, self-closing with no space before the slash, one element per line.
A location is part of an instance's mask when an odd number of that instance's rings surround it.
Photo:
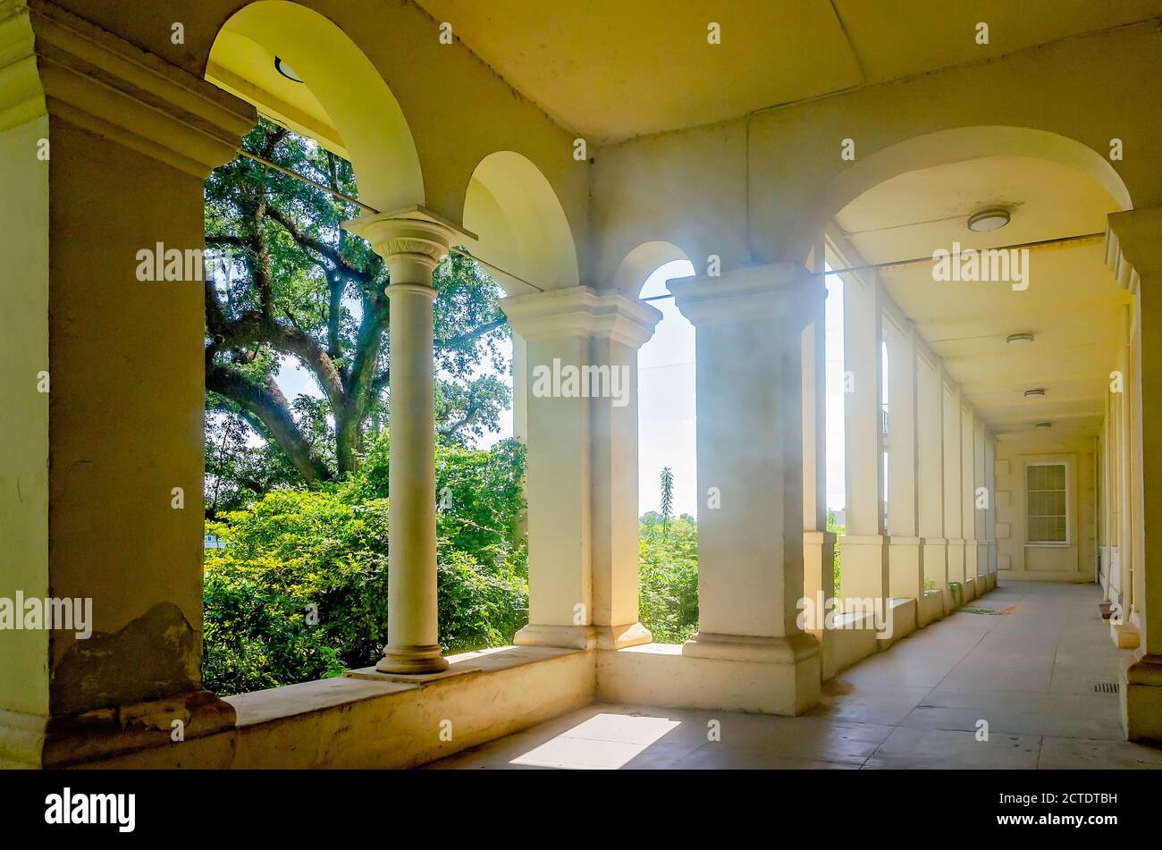
<path fill-rule="evenodd" d="M 689 276 L 694 267 L 675 260 L 646 279 L 641 297 L 667 295 L 666 281 Z M 840 509 L 844 498 L 844 301 L 842 283 L 829 275 L 826 326 L 827 405 L 827 507 Z M 660 507 L 659 478 L 664 467 L 674 474 L 674 511 L 698 513 L 695 410 L 694 326 L 679 312 L 673 298 L 650 302 L 662 314 L 653 337 L 638 352 L 638 507 L 639 513 Z M 502 352 L 511 358 L 512 345 L 504 340 Z M 502 375 L 509 387 L 511 374 Z M 282 362 L 275 380 L 288 398 L 299 394 L 321 397 L 311 373 L 294 359 Z M 486 434 L 475 445 L 487 448 L 512 435 L 512 411 L 501 415 L 501 430 Z"/>

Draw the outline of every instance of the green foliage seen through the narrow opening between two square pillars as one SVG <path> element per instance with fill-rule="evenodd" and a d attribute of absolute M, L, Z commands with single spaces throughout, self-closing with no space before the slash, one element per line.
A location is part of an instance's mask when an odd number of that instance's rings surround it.
<path fill-rule="evenodd" d="M 658 643 L 684 643 L 698 631 L 698 528 L 683 514 L 668 526 L 652 511 L 638 539 L 639 618 Z"/>

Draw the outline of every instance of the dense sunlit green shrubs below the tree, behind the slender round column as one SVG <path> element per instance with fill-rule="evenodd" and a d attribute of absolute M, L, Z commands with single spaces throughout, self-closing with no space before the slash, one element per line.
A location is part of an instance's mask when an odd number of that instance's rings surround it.
<path fill-rule="evenodd" d="M 524 449 L 442 447 L 437 521 L 445 651 L 511 643 L 528 620 Z M 275 489 L 207 523 L 206 686 L 238 693 L 374 664 L 387 642 L 388 439 L 340 484 Z M 311 622 L 310 612 L 317 612 Z"/>

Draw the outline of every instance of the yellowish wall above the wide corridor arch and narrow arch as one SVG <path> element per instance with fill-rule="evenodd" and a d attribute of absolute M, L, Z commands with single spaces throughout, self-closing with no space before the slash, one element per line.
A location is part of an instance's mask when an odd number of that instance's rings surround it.
<path fill-rule="evenodd" d="M 610 280 L 625 252 L 651 239 L 680 245 L 695 266 L 703 252 L 722 255 L 724 268 L 799 262 L 863 190 L 902 172 L 992 153 L 1070 165 L 1125 202 L 1116 192 L 1120 175 L 1135 207 L 1157 204 L 1160 38 L 1148 22 L 603 147 L 594 173 L 596 276 Z M 1127 79 L 1138 85 L 1127 87 Z M 1062 91 L 1069 96 L 1045 96 Z M 1105 161 L 1114 135 L 1139 153 Z M 839 156 L 845 138 L 855 142 L 854 163 Z"/>

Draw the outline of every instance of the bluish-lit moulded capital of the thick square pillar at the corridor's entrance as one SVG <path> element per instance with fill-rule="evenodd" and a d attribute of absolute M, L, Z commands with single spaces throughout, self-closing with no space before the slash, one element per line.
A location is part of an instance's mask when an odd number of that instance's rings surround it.
<path fill-rule="evenodd" d="M 745 266 L 718 278 L 681 278 L 667 288 L 695 326 L 774 317 L 805 326 L 811 309 L 826 297 L 823 279 L 792 262 Z"/>

